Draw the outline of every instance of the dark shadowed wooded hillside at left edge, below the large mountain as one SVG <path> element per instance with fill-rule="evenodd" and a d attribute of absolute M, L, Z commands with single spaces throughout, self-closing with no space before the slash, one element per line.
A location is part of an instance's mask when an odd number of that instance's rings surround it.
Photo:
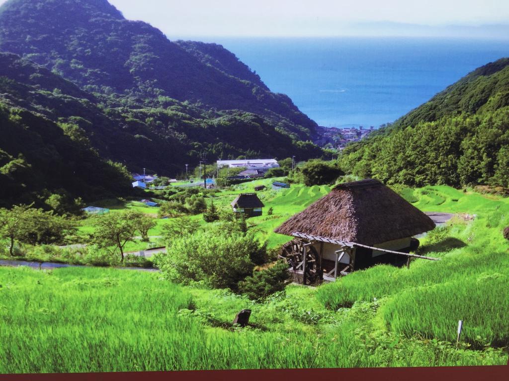
<path fill-rule="evenodd" d="M 53 196 L 72 210 L 77 197 L 87 201 L 132 192 L 127 171 L 99 157 L 71 125 L 0 102 L 0 130 L 0 207 L 44 206 Z"/>

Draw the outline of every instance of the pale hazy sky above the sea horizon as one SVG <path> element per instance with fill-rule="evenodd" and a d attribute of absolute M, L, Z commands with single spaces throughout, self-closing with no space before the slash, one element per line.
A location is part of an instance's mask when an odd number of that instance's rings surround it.
<path fill-rule="evenodd" d="M 5 0 L 0 0 L 0 4 Z M 478 36 L 508 31 L 508 0 L 110 0 L 168 37 Z M 500 26 L 486 26 L 506 24 Z"/>

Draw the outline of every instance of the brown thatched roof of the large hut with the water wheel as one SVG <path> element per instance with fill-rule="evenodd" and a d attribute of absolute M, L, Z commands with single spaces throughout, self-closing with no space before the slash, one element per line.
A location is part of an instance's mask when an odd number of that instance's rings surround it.
<path fill-rule="evenodd" d="M 407 238 L 435 224 L 426 214 L 378 180 L 340 184 L 275 230 L 374 245 Z"/>

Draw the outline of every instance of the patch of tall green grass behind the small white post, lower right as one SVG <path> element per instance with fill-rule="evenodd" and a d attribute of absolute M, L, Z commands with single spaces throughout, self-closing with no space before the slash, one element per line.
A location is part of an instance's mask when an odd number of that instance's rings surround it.
<path fill-rule="evenodd" d="M 408 337 L 419 333 L 450 342 L 462 320 L 463 341 L 475 347 L 509 346 L 507 292 L 507 275 L 484 273 L 402 292 L 382 307 L 382 316 L 391 330 Z"/>

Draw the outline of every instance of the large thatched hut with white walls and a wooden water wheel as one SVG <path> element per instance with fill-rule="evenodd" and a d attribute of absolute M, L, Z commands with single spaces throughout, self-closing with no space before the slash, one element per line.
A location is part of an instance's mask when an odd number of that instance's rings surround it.
<path fill-rule="evenodd" d="M 337 185 L 275 232 L 295 237 L 281 256 L 308 283 L 375 264 L 401 266 L 418 247 L 412 237 L 434 228 L 425 213 L 380 181 L 367 179 Z"/>

